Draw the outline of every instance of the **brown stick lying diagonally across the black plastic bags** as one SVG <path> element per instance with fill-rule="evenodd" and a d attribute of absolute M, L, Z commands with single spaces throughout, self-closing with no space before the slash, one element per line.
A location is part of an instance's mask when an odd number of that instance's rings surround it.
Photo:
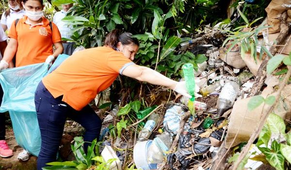
<path fill-rule="evenodd" d="M 178 130 L 177 135 L 176 135 L 176 137 L 175 137 L 175 139 L 174 139 L 174 141 L 173 141 L 173 143 L 172 143 L 171 148 L 169 149 L 169 153 L 173 153 L 174 150 L 176 149 L 176 146 L 177 146 L 178 141 L 179 141 L 179 136 L 180 136 L 180 134 L 183 132 L 183 130 L 184 130 L 184 125 L 185 125 L 186 121 L 188 120 L 188 118 L 190 117 L 190 115 L 191 115 L 190 111 L 187 111 L 187 112 L 182 116 L 182 119 L 181 119 L 181 121 L 180 121 L 179 130 Z M 165 165 L 166 165 L 166 161 L 164 160 L 164 161 L 162 162 L 162 165 L 160 166 L 159 170 L 163 170 L 163 168 L 164 168 Z"/>

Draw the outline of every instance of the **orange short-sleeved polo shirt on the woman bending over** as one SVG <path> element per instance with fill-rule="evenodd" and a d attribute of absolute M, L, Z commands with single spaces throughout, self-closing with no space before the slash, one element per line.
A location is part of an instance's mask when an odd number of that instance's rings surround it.
<path fill-rule="evenodd" d="M 42 81 L 53 97 L 63 95 L 65 103 L 81 110 L 131 64 L 111 47 L 95 47 L 73 54 Z"/>

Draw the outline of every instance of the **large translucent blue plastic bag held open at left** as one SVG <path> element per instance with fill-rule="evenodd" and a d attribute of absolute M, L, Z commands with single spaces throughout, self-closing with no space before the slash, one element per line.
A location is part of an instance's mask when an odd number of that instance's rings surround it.
<path fill-rule="evenodd" d="M 3 99 L 0 112 L 9 111 L 19 146 L 38 156 L 41 136 L 35 111 L 34 92 L 43 77 L 56 69 L 68 55 L 59 55 L 50 67 L 46 63 L 11 68 L 0 72 Z M 0 113 L 1 114 L 1 113 Z"/>

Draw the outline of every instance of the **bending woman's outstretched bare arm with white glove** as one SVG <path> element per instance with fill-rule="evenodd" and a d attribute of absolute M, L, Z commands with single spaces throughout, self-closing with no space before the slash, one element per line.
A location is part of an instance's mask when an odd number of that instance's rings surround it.
<path fill-rule="evenodd" d="M 148 67 L 132 64 L 127 66 L 123 70 L 122 74 L 127 77 L 135 78 L 139 81 L 146 81 L 150 84 L 165 86 L 177 93 L 191 98 L 191 95 L 187 92 L 185 81 L 177 82 Z"/>

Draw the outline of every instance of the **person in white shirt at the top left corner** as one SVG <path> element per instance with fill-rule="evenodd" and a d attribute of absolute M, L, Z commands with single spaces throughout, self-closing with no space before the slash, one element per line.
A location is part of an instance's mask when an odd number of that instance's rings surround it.
<path fill-rule="evenodd" d="M 14 20 L 22 18 L 24 10 L 20 0 L 8 0 L 9 8 L 2 14 L 0 24 L 4 31 L 9 30 Z"/>

